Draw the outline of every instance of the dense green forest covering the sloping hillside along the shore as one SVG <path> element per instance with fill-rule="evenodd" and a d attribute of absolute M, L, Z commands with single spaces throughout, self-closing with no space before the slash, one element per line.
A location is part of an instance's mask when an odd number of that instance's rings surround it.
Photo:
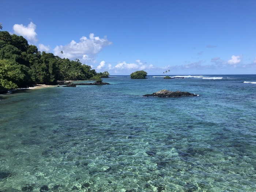
<path fill-rule="evenodd" d="M 22 36 L 0 31 L 0 88 L 15 89 L 32 84 L 56 84 L 57 80 L 107 78 L 79 59 L 69 60 L 40 52 Z"/>

